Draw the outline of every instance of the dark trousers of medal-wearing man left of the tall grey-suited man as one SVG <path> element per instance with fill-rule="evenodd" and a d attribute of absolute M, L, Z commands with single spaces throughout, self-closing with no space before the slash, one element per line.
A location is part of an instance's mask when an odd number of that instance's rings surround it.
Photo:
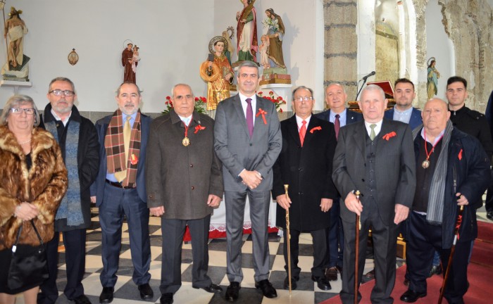
<path fill-rule="evenodd" d="M 211 285 L 208 270 L 208 234 L 211 215 L 198 220 L 177 220 L 161 218 L 163 255 L 161 256 L 161 293 L 175 293 L 182 286 L 182 244 L 185 228 L 192 236 L 192 286 L 196 288 Z"/>

